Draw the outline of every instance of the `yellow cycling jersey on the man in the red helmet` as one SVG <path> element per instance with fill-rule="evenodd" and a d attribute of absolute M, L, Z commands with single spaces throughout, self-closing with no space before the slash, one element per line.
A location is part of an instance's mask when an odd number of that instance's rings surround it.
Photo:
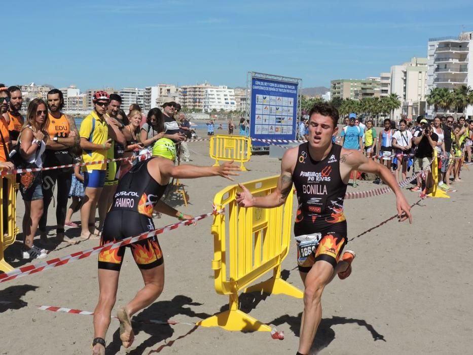
<path fill-rule="evenodd" d="M 92 111 L 81 123 L 79 130 L 81 138 L 86 138 L 94 144 L 102 145 L 108 139 L 108 126 L 104 119 L 98 117 L 95 111 Z M 105 160 L 107 158 L 107 150 L 83 150 L 82 162 L 88 163 L 91 161 Z M 82 171 L 90 170 L 106 170 L 107 164 L 84 165 Z"/>

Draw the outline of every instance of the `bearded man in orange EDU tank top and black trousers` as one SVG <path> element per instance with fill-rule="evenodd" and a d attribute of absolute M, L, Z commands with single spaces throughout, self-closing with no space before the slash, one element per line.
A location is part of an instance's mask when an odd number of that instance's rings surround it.
<path fill-rule="evenodd" d="M 46 144 L 44 167 L 68 165 L 74 162 L 74 157 L 69 148 L 79 146 L 80 137 L 74 119 L 65 115 L 61 110 L 64 107 L 64 97 L 58 89 L 48 92 L 47 103 L 49 109 L 49 137 Z M 48 208 L 53 198 L 54 188 L 57 183 L 56 197 L 56 241 L 66 241 L 70 244 L 76 242 L 64 235 L 64 222 L 66 219 L 67 199 L 72 181 L 72 168 L 60 168 L 43 171 L 43 203 L 44 211 L 39 223 L 41 241 L 48 242 L 46 223 Z"/>

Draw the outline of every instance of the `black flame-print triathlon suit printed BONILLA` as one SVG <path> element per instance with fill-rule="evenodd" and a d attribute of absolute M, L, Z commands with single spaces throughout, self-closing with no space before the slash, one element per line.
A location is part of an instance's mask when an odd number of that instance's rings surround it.
<path fill-rule="evenodd" d="M 299 146 L 292 176 L 299 203 L 294 235 L 321 233 L 318 246 L 303 262 L 298 248 L 301 272 L 309 272 L 318 260 L 325 260 L 335 267 L 347 240 L 347 222 L 343 214 L 347 185 L 340 176 L 341 151 L 341 146 L 333 144 L 325 159 L 315 161 L 309 154 L 308 143 Z"/>

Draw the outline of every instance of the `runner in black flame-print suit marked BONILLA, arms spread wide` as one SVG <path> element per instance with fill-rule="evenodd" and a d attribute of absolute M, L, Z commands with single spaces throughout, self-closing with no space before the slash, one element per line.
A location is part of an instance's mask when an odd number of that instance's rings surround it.
<path fill-rule="evenodd" d="M 298 354 L 308 354 L 322 315 L 323 289 L 336 274 L 341 279 L 351 273 L 352 251 L 347 242 L 347 224 L 343 200 L 352 170 L 376 173 L 396 195 L 399 221 L 412 218 L 410 206 L 396 184 L 394 176 L 383 165 L 361 152 L 332 143 L 338 132 L 337 109 L 328 103 L 316 104 L 309 113 L 309 139 L 299 147 L 288 149 L 281 161 L 281 175 L 276 189 L 267 196 L 256 197 L 243 186 L 236 201 L 242 207 L 276 207 L 297 190 L 299 208 L 294 224 L 298 246 L 298 267 L 304 283 Z M 340 259 L 341 257 L 341 259 Z"/>

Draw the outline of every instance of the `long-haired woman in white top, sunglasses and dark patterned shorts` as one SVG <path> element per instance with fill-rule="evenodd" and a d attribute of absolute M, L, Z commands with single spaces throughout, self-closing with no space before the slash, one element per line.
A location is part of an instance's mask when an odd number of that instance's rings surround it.
<path fill-rule="evenodd" d="M 43 153 L 49 134 L 48 107 L 41 98 L 35 98 L 28 105 L 26 122 L 20 131 L 20 154 L 27 167 L 43 167 Z M 43 215 L 43 191 L 41 171 L 21 174 L 20 192 L 25 203 L 23 217 L 24 250 L 23 259 L 46 258 L 44 249 L 33 245 L 38 223 Z"/>

